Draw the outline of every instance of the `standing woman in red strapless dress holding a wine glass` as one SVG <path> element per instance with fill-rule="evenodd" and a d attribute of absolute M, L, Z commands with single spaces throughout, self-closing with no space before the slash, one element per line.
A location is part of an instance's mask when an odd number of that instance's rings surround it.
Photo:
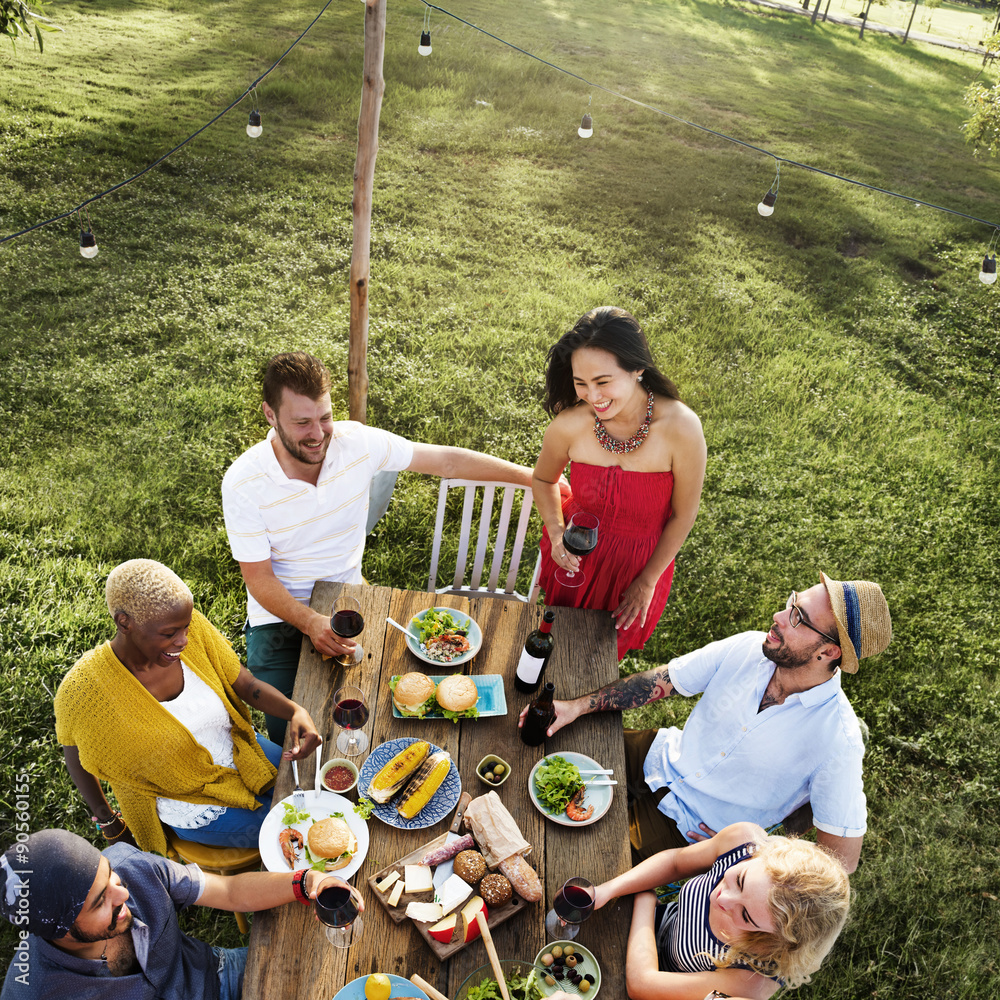
<path fill-rule="evenodd" d="M 591 310 L 552 347 L 545 385 L 554 419 L 532 478 L 545 525 L 539 582 L 546 604 L 610 611 L 621 659 L 656 628 L 674 557 L 698 516 L 701 421 L 657 371 L 636 320 L 612 306 Z M 560 502 L 567 464 L 572 492 Z M 597 548 L 585 558 L 585 582 L 563 586 L 556 572 L 580 569 L 563 546 L 577 511 L 600 520 Z"/>

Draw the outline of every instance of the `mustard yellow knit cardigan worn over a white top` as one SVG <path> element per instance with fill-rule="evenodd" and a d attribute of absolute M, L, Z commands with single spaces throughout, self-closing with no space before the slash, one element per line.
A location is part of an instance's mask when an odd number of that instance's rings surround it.
<path fill-rule="evenodd" d="M 277 773 L 257 743 L 250 711 L 233 691 L 240 661 L 232 646 L 195 611 L 184 662 L 221 699 L 232 719 L 235 770 L 212 763 L 195 740 L 125 667 L 106 642 L 85 653 L 56 692 L 56 736 L 75 746 L 80 763 L 107 781 L 144 851 L 166 854 L 157 796 L 257 809 L 255 793 Z"/>

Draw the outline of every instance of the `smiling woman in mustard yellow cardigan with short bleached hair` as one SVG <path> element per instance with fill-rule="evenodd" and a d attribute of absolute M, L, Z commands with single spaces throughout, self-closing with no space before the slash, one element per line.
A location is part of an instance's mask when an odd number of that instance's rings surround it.
<path fill-rule="evenodd" d="M 282 754 L 246 703 L 289 721 L 286 758 L 322 742 L 309 713 L 254 678 L 161 563 L 116 566 L 105 594 L 115 636 L 77 661 L 55 701 L 66 766 L 101 832 L 161 854 L 163 824 L 203 844 L 256 844 Z"/>

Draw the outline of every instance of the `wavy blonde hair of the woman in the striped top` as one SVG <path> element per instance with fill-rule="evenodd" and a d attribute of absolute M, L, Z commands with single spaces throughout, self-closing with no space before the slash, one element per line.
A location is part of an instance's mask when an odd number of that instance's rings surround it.
<path fill-rule="evenodd" d="M 744 962 L 785 986 L 808 983 L 847 922 L 851 889 L 840 862 L 819 844 L 768 837 L 754 852 L 771 877 L 774 933 L 752 931 L 730 943 L 719 966 Z"/>

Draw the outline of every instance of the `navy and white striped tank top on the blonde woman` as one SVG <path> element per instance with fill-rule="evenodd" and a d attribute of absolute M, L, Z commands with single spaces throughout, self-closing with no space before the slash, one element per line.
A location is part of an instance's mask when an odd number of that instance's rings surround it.
<path fill-rule="evenodd" d="M 728 945 L 720 941 L 708 923 L 709 897 L 733 865 L 753 855 L 754 844 L 741 844 L 717 858 L 702 875 L 689 878 L 677 900 L 667 904 L 656 933 L 656 950 L 661 972 L 714 972 L 714 958 L 722 958 Z M 711 957 L 710 957 L 711 956 Z M 731 968 L 749 966 L 734 962 Z"/>

